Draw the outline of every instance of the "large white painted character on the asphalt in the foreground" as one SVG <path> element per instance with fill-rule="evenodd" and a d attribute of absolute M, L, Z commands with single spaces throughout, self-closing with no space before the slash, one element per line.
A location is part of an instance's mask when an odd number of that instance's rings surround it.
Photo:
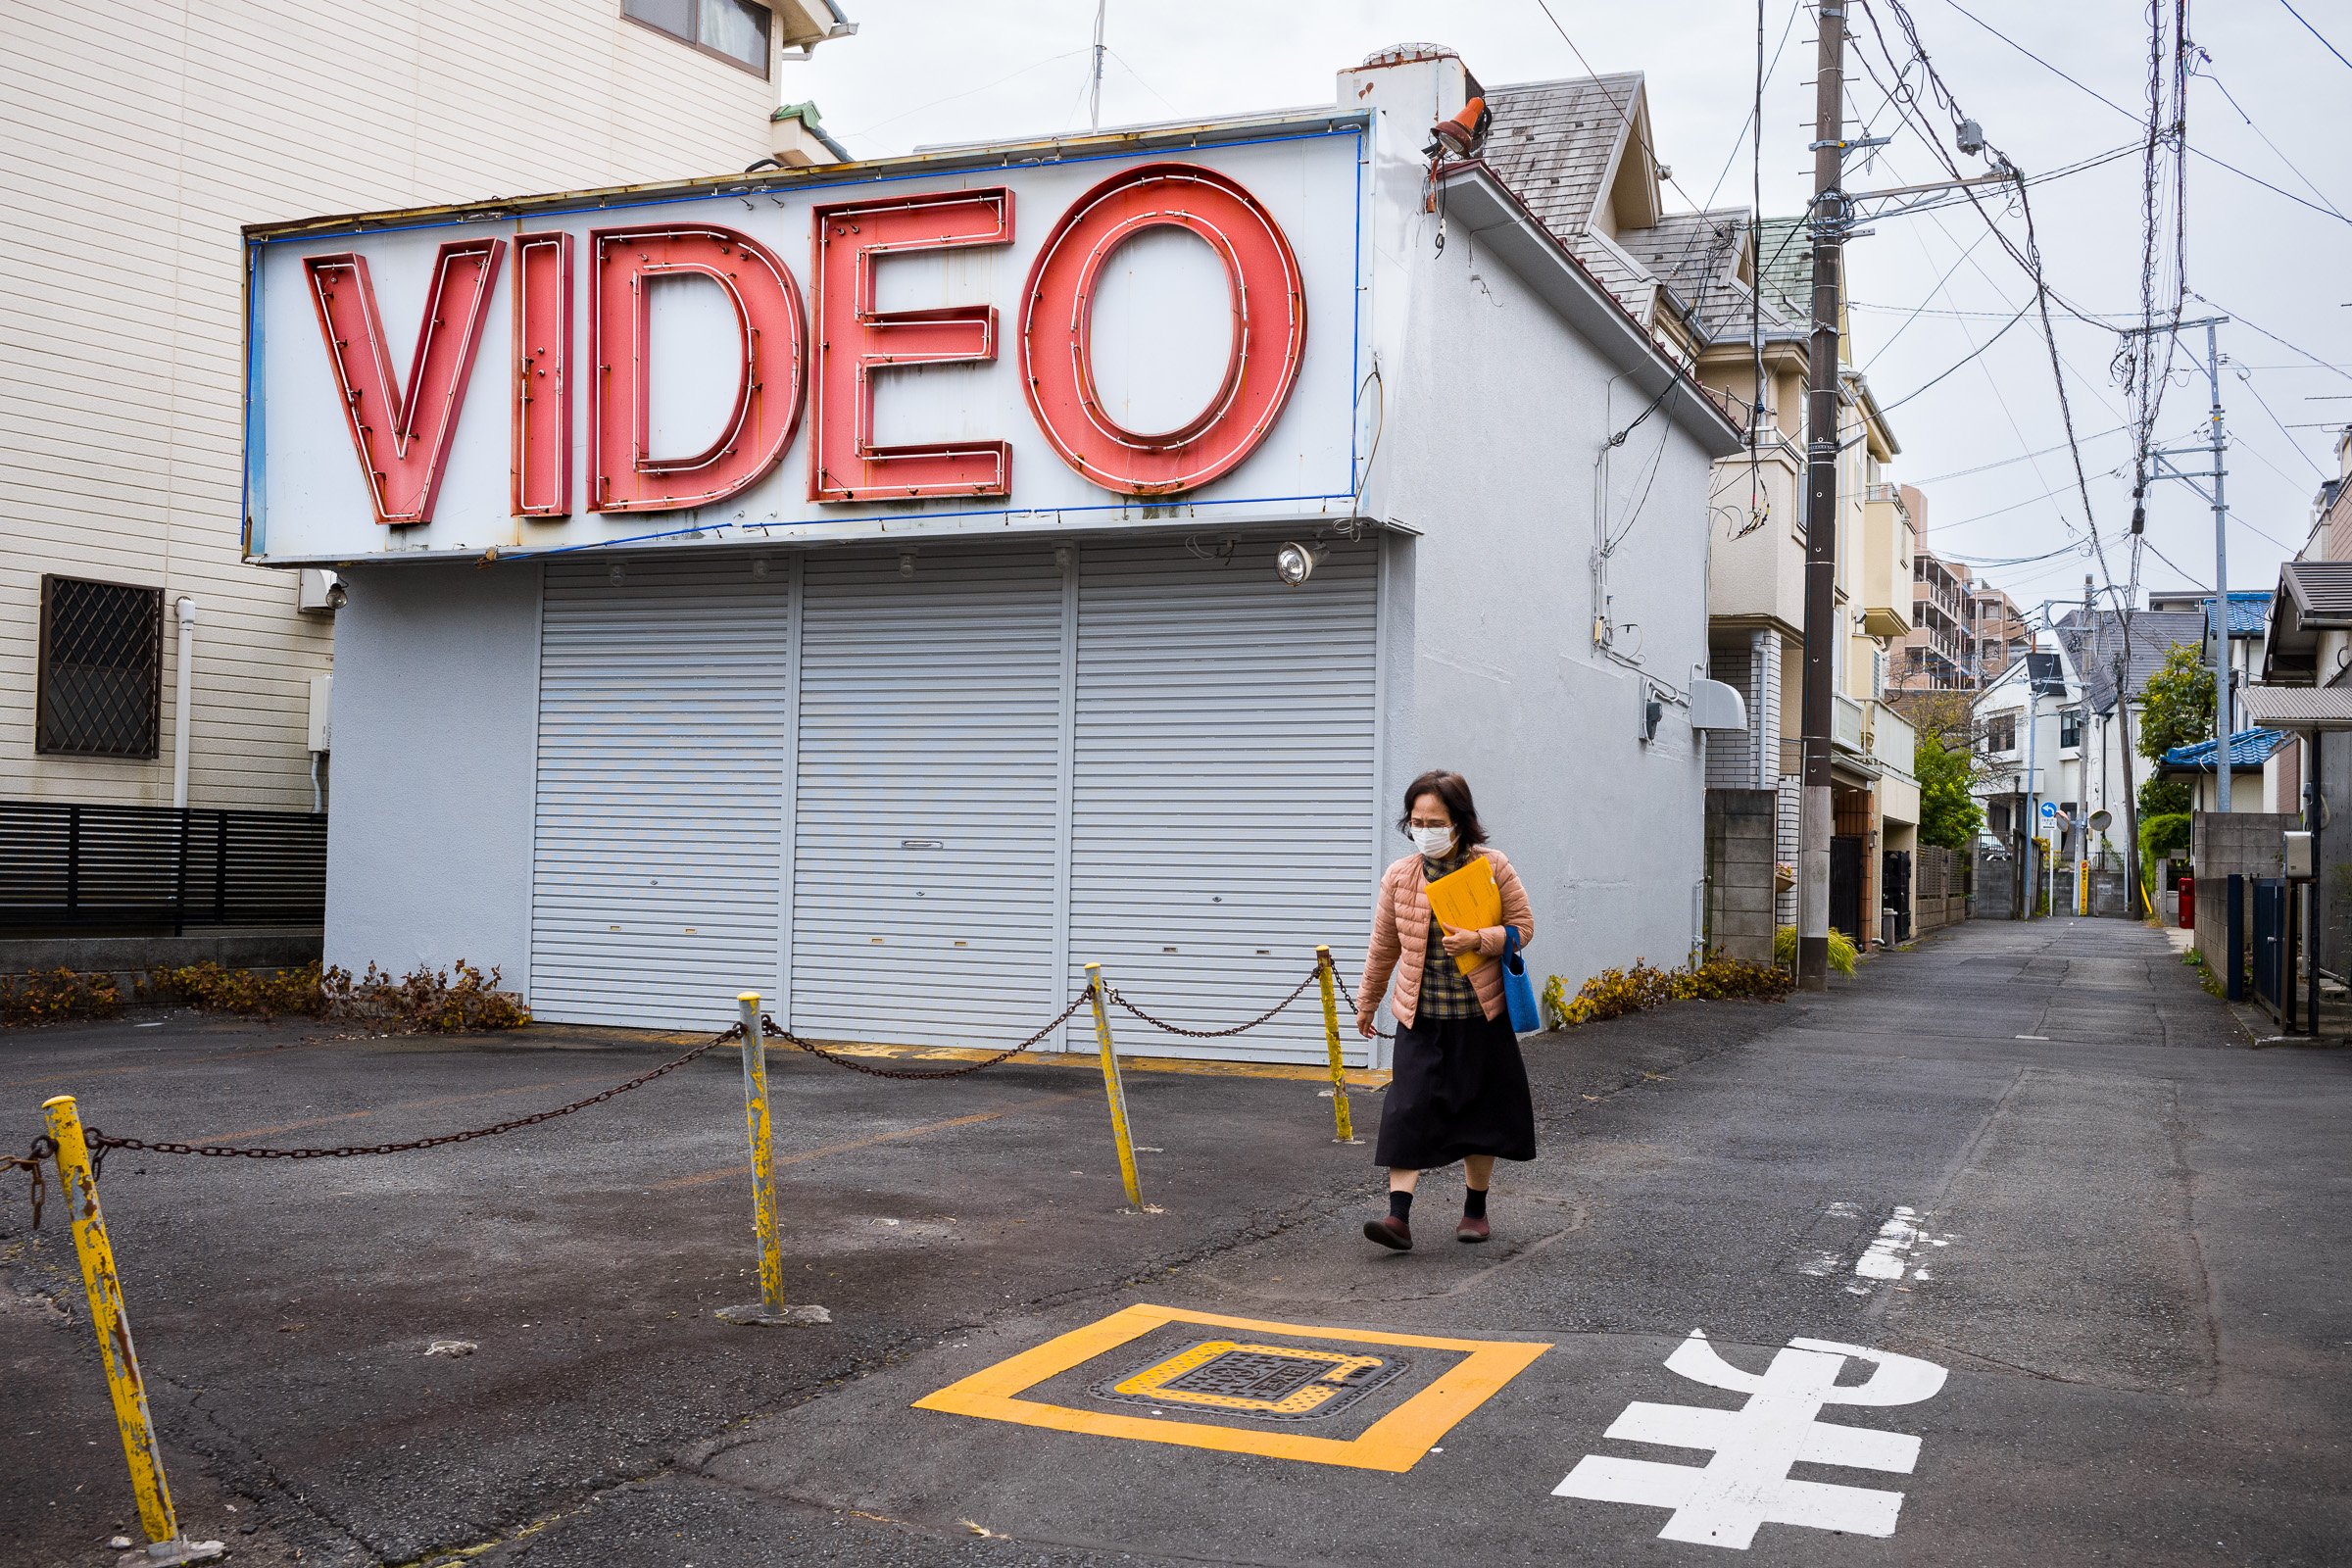
<path fill-rule="evenodd" d="M 1870 1363 L 1870 1378 L 1837 1387 L 1846 1359 Z M 1757 1528 L 1795 1523 L 1849 1535 L 1893 1535 L 1903 1493 L 1828 1481 L 1792 1481 L 1792 1465 L 1846 1465 L 1910 1474 L 1919 1462 L 1919 1439 L 1903 1432 L 1839 1427 L 1816 1420 L 1823 1406 L 1907 1406 L 1943 1389 L 1945 1368 L 1917 1356 L 1896 1356 L 1860 1345 L 1790 1340 L 1773 1352 L 1764 1373 L 1724 1361 L 1708 1333 L 1693 1328 L 1668 1371 L 1708 1387 L 1748 1394 L 1738 1410 L 1661 1406 L 1637 1399 L 1625 1406 L 1606 1436 L 1670 1448 L 1708 1448 L 1705 1467 L 1616 1460 L 1588 1453 L 1552 1488 L 1555 1497 L 1630 1502 L 1675 1509 L 1658 1540 L 1708 1547 L 1755 1544 Z"/>

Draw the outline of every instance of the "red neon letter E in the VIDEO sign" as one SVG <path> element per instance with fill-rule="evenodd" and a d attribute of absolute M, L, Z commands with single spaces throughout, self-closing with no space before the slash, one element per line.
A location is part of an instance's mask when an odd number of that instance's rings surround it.
<path fill-rule="evenodd" d="M 1011 190 L 910 195 L 818 207 L 809 282 L 816 292 L 816 411 L 809 421 L 809 501 L 1007 496 L 1007 442 L 875 447 L 873 378 L 924 364 L 997 357 L 995 306 L 877 310 L 875 256 L 1009 244 Z"/>

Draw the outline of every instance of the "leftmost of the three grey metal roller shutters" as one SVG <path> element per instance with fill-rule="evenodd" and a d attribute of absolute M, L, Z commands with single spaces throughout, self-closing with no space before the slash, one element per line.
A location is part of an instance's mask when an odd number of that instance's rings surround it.
<path fill-rule="evenodd" d="M 621 581 L 612 581 L 614 571 Z M 722 1027 L 774 990 L 786 562 L 553 562 L 539 632 L 532 1011 Z"/>

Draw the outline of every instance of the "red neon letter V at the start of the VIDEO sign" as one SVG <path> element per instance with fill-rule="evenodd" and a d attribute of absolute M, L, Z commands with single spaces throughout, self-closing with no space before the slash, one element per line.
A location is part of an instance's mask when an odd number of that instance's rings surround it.
<path fill-rule="evenodd" d="M 343 252 L 303 261 L 318 327 L 327 334 L 327 357 L 343 393 L 350 444 L 360 451 L 381 524 L 433 522 L 433 496 L 440 491 L 449 437 L 456 435 L 473 350 L 482 343 L 489 315 L 489 287 L 503 254 L 506 240 L 489 237 L 440 247 L 405 393 L 393 378 L 367 256 Z"/>

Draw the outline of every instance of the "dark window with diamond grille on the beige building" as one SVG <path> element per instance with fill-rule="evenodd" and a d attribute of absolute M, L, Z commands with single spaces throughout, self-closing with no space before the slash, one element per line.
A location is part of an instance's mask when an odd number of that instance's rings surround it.
<path fill-rule="evenodd" d="M 162 590 L 40 578 L 40 724 L 52 757 L 153 757 Z"/>

